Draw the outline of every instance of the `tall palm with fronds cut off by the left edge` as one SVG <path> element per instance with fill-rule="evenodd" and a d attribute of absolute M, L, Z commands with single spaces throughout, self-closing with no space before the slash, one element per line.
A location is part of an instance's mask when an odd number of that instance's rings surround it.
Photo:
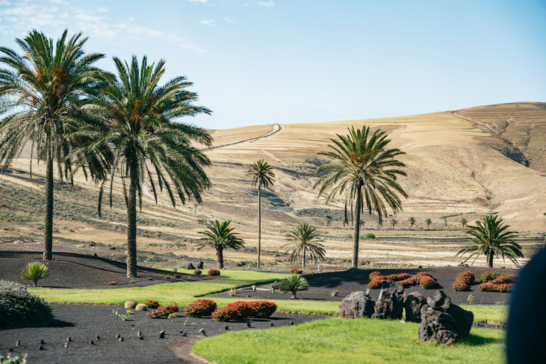
<path fill-rule="evenodd" d="M 0 121 L 0 134 L 4 134 L 0 162 L 5 170 L 27 141 L 32 141 L 33 149 L 36 146 L 38 159 L 45 159 L 45 260 L 53 255 L 53 161 L 57 161 L 62 182 L 72 169 L 66 157 L 81 141 L 70 137 L 82 127 L 80 107 L 104 76 L 93 63 L 105 55 L 85 55 L 86 41 L 82 33 L 68 38 L 65 30 L 53 43 L 33 30 L 23 39 L 16 38 L 21 55 L 0 47 L 0 63 L 7 66 L 0 69 L 0 114 L 4 116 Z"/>

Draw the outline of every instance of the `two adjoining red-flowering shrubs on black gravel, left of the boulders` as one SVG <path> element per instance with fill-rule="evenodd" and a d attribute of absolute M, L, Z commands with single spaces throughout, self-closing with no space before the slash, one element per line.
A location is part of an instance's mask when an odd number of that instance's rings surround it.
<path fill-rule="evenodd" d="M 222 309 L 216 309 L 212 299 L 198 299 L 186 306 L 184 313 L 191 317 L 210 316 L 213 321 L 230 321 L 256 317 L 264 319 L 277 310 L 277 305 L 269 301 L 235 301 Z"/>

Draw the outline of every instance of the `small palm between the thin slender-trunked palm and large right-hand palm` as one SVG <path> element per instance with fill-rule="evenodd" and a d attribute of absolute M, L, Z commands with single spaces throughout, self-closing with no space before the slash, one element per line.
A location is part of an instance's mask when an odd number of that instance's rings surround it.
<path fill-rule="evenodd" d="M 301 259 L 301 270 L 305 270 L 306 257 L 309 255 L 311 261 L 318 262 L 324 259 L 326 251 L 319 243 L 319 232 L 312 225 L 303 223 L 292 229 L 287 235 L 289 242 L 282 247 L 289 247 L 285 253 L 290 253 L 290 262 L 294 264 Z"/>

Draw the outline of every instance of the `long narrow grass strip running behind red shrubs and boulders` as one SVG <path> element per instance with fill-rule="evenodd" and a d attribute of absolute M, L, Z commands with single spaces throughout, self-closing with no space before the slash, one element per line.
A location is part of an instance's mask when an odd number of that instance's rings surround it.
<path fill-rule="evenodd" d="M 193 271 L 180 270 L 179 272 Z M 206 274 L 206 270 L 203 273 Z M 147 300 L 159 301 L 160 304 L 176 302 L 178 306 L 186 306 L 195 301 L 197 297 L 206 296 L 217 292 L 227 291 L 230 288 L 248 287 L 252 284 L 280 281 L 288 274 L 264 273 L 240 270 L 223 270 L 222 274 L 229 274 L 228 278 L 219 278 L 212 281 L 200 282 L 176 282 L 154 284 L 148 287 L 128 287 L 119 289 L 53 289 L 53 288 L 29 288 L 28 291 L 38 294 L 45 301 L 68 304 L 115 304 L 122 305 L 129 299 L 137 302 Z M 218 306 L 223 307 L 232 299 L 215 299 Z M 339 303 L 330 301 L 300 301 L 285 299 L 287 296 L 279 295 L 274 299 L 278 311 L 337 315 Z M 249 299 L 244 299 L 249 301 Z M 473 311 L 474 321 L 505 322 L 508 316 L 508 306 L 478 306 L 461 305 L 466 310 Z"/>

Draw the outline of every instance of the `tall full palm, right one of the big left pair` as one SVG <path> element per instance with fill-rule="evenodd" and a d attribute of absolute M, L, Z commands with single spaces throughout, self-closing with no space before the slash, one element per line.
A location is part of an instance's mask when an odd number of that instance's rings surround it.
<path fill-rule="evenodd" d="M 127 205 L 127 277 L 137 274 L 137 195 L 142 206 L 144 183 L 148 183 L 156 203 L 159 191 L 166 190 L 173 207 L 176 196 L 186 204 L 186 198 L 201 203 L 201 193 L 210 187 L 203 167 L 210 161 L 192 143 L 205 146 L 212 138 L 203 129 L 176 120 L 196 114 L 210 114 L 205 107 L 195 106 L 197 94 L 186 90 L 192 83 L 178 76 L 159 85 L 165 73 L 165 61 L 148 64 L 146 56 L 139 65 L 133 56 L 130 65 L 114 57 L 117 78 L 112 77 L 95 98 L 91 110 L 106 121 L 103 129 L 92 129 L 95 141 L 80 149 L 82 154 L 104 150 L 113 152 L 104 158 L 110 172 L 110 206 L 114 172 L 124 166 L 129 178 L 129 191 L 122 179 Z M 87 133 L 86 130 L 82 134 Z M 80 159 L 80 164 L 86 158 Z"/>

